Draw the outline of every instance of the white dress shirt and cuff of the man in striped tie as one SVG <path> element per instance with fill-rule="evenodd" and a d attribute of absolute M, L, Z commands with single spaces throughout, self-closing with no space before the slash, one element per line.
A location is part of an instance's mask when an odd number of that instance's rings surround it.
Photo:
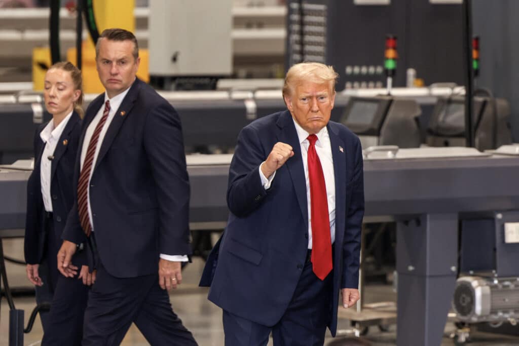
<path fill-rule="evenodd" d="M 104 136 L 106 135 L 106 131 L 108 130 L 108 127 L 110 127 L 110 123 L 114 119 L 115 113 L 117 112 L 117 109 L 119 109 L 119 106 L 122 103 L 122 100 L 126 97 L 126 94 L 130 88 L 126 89 L 125 91 L 121 92 L 120 94 L 114 96 L 112 99 L 108 99 L 108 95 L 106 92 L 104 93 L 104 102 L 101 108 L 98 110 L 98 113 L 95 115 L 93 120 L 90 122 L 87 128 L 87 132 L 85 133 L 85 139 L 83 141 L 83 147 L 81 148 L 81 159 L 80 159 L 80 169 L 83 169 L 83 162 L 85 162 L 85 157 L 87 156 L 87 150 L 88 145 L 90 144 L 90 139 L 92 138 L 92 134 L 95 131 L 95 127 L 97 127 L 97 124 L 101 120 L 101 117 L 104 113 L 104 107 L 107 100 L 110 100 L 110 113 L 108 113 L 108 117 L 106 118 L 106 122 L 103 125 L 103 128 L 101 129 L 101 132 L 99 133 L 99 140 L 97 142 L 97 146 L 95 147 L 94 151 L 94 159 L 92 161 L 92 170 L 90 171 L 90 177 L 88 178 L 88 185 L 90 185 L 90 180 L 92 179 L 92 174 L 95 167 L 95 162 L 97 162 L 98 156 L 99 156 L 99 150 L 101 149 L 101 144 L 103 143 Z M 92 217 L 92 208 L 90 205 L 90 189 L 87 188 L 87 198 L 88 198 L 88 217 L 90 218 L 90 225 L 92 225 L 92 232 L 94 231 L 93 227 L 93 217 Z M 166 255 L 166 254 L 160 254 L 160 258 L 167 259 L 169 261 L 182 261 L 186 262 L 188 261 L 187 255 Z"/>

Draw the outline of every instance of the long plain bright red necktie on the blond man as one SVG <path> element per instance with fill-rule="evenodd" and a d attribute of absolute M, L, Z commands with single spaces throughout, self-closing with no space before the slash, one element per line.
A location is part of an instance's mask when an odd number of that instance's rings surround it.
<path fill-rule="evenodd" d="M 316 152 L 317 136 L 308 136 L 308 178 L 310 180 L 310 214 L 312 229 L 312 269 L 321 280 L 332 271 L 332 240 L 328 198 L 321 161 Z"/>

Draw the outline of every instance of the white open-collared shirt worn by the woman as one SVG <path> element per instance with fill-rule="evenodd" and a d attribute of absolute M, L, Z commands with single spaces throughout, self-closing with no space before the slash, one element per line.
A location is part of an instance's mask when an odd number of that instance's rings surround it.
<path fill-rule="evenodd" d="M 70 112 L 59 125 L 54 128 L 54 120 L 50 120 L 47 126 L 39 133 L 39 137 L 42 139 L 45 148 L 43 149 L 42 159 L 39 165 L 39 178 L 40 185 L 42 186 L 42 197 L 45 211 L 52 213 L 52 198 L 50 194 L 50 173 L 52 167 L 52 160 L 49 160 L 49 156 L 54 155 L 54 150 L 58 146 L 61 134 L 65 129 L 67 122 L 71 118 L 73 112 Z"/>

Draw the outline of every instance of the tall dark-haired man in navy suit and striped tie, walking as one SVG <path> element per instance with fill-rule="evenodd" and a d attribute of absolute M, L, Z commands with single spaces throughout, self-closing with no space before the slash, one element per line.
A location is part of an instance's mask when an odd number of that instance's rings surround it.
<path fill-rule="evenodd" d="M 107 29 L 96 45 L 106 89 L 90 103 L 79 140 L 74 206 L 58 269 L 70 276 L 76 244 L 87 241 L 97 269 L 83 345 L 118 345 L 131 323 L 152 345 L 196 345 L 166 289 L 181 283 L 190 254 L 189 183 L 174 108 L 136 78 L 135 36 Z"/>

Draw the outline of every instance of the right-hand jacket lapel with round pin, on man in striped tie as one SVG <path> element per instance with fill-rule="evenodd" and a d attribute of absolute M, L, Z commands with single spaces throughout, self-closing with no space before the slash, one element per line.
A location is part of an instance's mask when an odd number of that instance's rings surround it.
<path fill-rule="evenodd" d="M 99 163 L 103 160 L 103 157 L 106 155 L 108 149 L 110 149 L 110 146 L 112 145 L 115 136 L 119 132 L 122 123 L 124 123 L 124 121 L 130 116 L 130 110 L 133 108 L 135 100 L 139 94 L 139 90 L 141 89 L 140 84 L 141 81 L 139 79 L 135 79 L 135 82 L 133 82 L 133 85 L 126 94 L 124 100 L 122 100 L 121 105 L 115 112 L 112 122 L 108 125 L 108 130 L 106 130 L 103 142 L 101 143 L 101 148 L 99 149 L 98 158 L 95 161 L 94 170 L 99 166 Z"/>

